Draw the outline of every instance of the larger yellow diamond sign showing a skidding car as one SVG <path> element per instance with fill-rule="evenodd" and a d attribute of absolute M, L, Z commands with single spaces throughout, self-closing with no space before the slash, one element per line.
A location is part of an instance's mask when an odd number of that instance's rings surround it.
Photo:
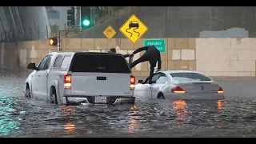
<path fill-rule="evenodd" d="M 148 30 L 147 26 L 141 22 L 134 14 L 120 27 L 122 34 L 130 40 L 130 42 L 137 42 L 139 38 Z"/>

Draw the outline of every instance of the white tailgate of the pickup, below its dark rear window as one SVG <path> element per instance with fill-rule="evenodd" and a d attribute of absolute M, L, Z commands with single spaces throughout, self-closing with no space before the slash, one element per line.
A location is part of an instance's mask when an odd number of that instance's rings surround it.
<path fill-rule="evenodd" d="M 73 72 L 71 75 L 72 95 L 130 95 L 130 74 Z"/>

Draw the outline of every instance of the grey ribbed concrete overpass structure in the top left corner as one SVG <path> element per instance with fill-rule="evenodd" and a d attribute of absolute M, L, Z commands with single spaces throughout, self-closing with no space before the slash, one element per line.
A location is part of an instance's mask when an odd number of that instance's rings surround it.
<path fill-rule="evenodd" d="M 0 6 L 0 18 L 0 42 L 35 40 L 50 34 L 46 6 Z"/>

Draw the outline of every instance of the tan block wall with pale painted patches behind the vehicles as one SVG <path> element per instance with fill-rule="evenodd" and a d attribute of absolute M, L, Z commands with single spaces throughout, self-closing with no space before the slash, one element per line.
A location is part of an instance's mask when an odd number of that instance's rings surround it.
<path fill-rule="evenodd" d="M 210 76 L 255 76 L 256 38 L 165 38 L 166 53 L 162 55 L 162 70 L 198 70 Z M 62 51 L 106 52 L 115 47 L 120 54 L 133 52 L 143 46 L 143 38 L 132 44 L 126 38 L 65 38 Z M 0 43 L 0 66 L 23 70 L 30 62 L 57 47 L 48 40 Z M 141 54 L 135 54 L 134 60 Z M 149 63 L 135 66 L 135 76 L 147 76 Z"/>

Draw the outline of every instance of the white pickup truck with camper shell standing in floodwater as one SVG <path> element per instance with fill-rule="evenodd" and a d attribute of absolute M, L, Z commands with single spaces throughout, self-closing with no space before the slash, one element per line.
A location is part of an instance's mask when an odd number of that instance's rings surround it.
<path fill-rule="evenodd" d="M 26 78 L 27 98 L 54 104 L 134 104 L 135 77 L 122 54 L 54 52 L 46 54 Z"/>

